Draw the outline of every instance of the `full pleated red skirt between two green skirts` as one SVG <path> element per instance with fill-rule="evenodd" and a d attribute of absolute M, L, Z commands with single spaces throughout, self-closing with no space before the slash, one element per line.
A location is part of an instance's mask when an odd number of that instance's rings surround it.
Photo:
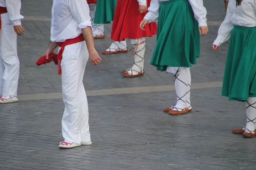
<path fill-rule="evenodd" d="M 147 0 L 148 7 L 150 6 L 150 1 Z M 147 12 L 140 14 L 137 0 L 117 0 L 111 40 L 123 41 L 126 38 L 138 39 L 142 37 L 153 37 L 153 35 L 157 34 L 156 22 L 146 24 L 144 27 L 145 31 L 140 29 L 140 22 Z"/>

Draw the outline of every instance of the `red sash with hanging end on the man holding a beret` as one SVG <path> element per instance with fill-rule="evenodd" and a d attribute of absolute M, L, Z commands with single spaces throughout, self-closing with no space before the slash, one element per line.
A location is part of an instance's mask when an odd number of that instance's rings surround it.
<path fill-rule="evenodd" d="M 68 39 L 64 42 L 56 42 L 56 44 L 61 47 L 60 51 L 58 52 L 57 60 L 58 60 L 58 75 L 61 75 L 61 59 L 62 59 L 62 54 L 64 51 L 64 48 L 66 45 L 71 45 L 75 44 L 78 42 L 84 41 L 84 36 L 83 34 L 80 34 L 78 37 L 73 38 L 73 39 Z"/>

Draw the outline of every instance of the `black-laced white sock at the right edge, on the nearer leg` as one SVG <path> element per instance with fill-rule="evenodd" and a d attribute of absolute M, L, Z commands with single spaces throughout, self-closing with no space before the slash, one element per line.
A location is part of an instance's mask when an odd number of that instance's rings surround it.
<path fill-rule="evenodd" d="M 245 132 L 254 133 L 255 125 L 256 125 L 256 97 L 248 97 L 246 103 L 246 116 L 247 123 Z"/>

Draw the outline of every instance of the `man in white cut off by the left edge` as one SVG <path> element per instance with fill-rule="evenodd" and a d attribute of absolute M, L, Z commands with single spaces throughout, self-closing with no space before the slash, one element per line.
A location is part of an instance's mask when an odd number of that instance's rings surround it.
<path fill-rule="evenodd" d="M 20 0 L 0 0 L 0 103 L 18 101 L 17 35 L 24 34 L 20 8 Z"/>

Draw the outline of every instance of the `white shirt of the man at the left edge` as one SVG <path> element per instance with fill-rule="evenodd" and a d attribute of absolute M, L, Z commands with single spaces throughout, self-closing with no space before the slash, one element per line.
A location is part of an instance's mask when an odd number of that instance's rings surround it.
<path fill-rule="evenodd" d="M 0 0 L 0 6 L 7 8 L 7 12 L 13 26 L 21 25 L 21 19 L 23 19 L 24 17 L 20 15 L 20 0 Z"/>

